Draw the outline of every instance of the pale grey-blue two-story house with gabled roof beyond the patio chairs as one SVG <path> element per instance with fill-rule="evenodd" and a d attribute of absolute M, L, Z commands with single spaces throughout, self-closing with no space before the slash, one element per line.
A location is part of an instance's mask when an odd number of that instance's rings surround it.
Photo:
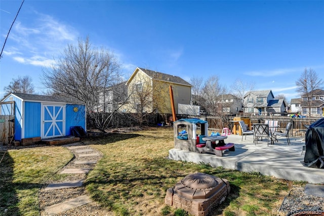
<path fill-rule="evenodd" d="M 284 99 L 274 99 L 271 90 L 250 91 L 244 96 L 244 112 L 254 115 L 284 113 L 287 103 Z"/>

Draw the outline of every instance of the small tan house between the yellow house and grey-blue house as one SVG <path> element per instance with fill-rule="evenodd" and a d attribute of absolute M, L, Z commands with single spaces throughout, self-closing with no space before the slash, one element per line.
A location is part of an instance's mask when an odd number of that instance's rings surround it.
<path fill-rule="evenodd" d="M 243 103 L 239 97 L 232 94 L 224 94 L 220 95 L 219 98 L 217 104 L 223 114 L 236 115 L 238 112 L 242 111 Z"/>

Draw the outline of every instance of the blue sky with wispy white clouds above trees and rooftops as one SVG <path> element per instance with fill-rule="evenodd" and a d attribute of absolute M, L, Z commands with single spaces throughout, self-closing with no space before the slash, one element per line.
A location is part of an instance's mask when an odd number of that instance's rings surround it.
<path fill-rule="evenodd" d="M 0 45 L 22 1 L 0 1 Z M 42 68 L 68 44 L 90 38 L 112 51 L 125 78 L 144 67 L 179 76 L 254 82 L 255 90 L 299 97 L 305 68 L 324 79 L 324 1 L 28 1 L 0 59 L 0 96 L 28 75 L 41 93 Z"/>

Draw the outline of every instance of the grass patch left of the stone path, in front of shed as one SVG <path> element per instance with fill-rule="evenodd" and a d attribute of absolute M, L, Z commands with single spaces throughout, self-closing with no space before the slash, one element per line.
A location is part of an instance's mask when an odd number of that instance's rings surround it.
<path fill-rule="evenodd" d="M 38 192 L 71 158 L 63 147 L 0 152 L 0 215 L 38 215 Z"/>

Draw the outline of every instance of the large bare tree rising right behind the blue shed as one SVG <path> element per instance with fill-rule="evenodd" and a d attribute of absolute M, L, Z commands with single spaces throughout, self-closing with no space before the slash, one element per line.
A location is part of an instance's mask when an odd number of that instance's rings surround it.
<path fill-rule="evenodd" d="M 86 40 L 77 46 L 68 45 L 55 65 L 43 69 L 42 82 L 50 92 L 59 96 L 78 99 L 87 105 L 88 115 L 96 121 L 96 127 L 104 130 L 111 115 L 106 115 L 108 104 L 114 103 L 114 86 L 123 81 L 120 64 L 114 54 L 104 48 L 93 47 Z M 122 104 L 120 104 L 122 105 Z"/>

